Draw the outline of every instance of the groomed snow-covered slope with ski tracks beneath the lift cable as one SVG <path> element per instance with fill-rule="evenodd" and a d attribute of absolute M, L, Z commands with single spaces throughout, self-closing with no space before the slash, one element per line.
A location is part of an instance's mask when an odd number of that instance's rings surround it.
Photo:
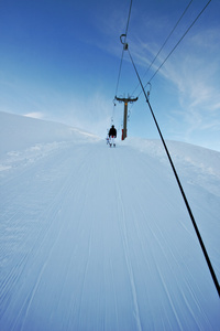
<path fill-rule="evenodd" d="M 0 330 L 220 330 L 157 140 L 0 113 Z M 167 142 L 220 279 L 220 153 Z"/>

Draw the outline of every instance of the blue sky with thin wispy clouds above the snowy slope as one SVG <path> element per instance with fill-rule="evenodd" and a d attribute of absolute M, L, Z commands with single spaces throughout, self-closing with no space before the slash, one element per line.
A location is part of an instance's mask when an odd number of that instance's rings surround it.
<path fill-rule="evenodd" d="M 127 42 L 144 85 L 207 2 L 133 0 Z M 129 7 L 130 0 L 1 0 L 0 110 L 101 137 L 113 116 L 121 130 L 123 104 L 112 100 Z M 138 83 L 124 52 L 118 96 L 138 96 Z M 219 0 L 210 2 L 151 84 L 150 102 L 165 139 L 220 150 Z M 143 94 L 129 109 L 128 136 L 158 138 Z"/>

